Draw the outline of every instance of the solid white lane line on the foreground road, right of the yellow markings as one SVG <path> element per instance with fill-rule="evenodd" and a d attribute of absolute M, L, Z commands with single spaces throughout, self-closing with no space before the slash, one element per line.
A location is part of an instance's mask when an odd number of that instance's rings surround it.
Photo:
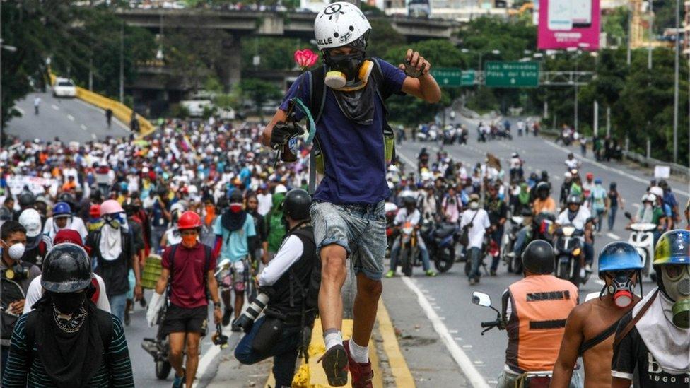
<path fill-rule="evenodd" d="M 481 376 L 479 370 L 476 370 L 472 361 L 469 360 L 469 357 L 467 357 L 467 354 L 465 354 L 464 351 L 462 351 L 462 348 L 457 346 L 457 343 L 453 341 L 452 336 L 448 332 L 448 327 L 441 322 L 442 319 L 440 319 L 438 314 L 433 311 L 433 308 L 431 308 L 431 305 L 429 304 L 428 300 L 426 300 L 426 297 L 421 290 L 419 290 L 419 287 L 417 287 L 416 284 L 414 284 L 409 278 L 402 278 L 402 281 L 405 283 L 407 288 L 409 288 L 413 293 L 416 293 L 417 302 L 419 302 L 422 310 L 426 312 L 426 317 L 433 324 L 433 329 L 441 337 L 441 340 L 443 343 L 445 343 L 445 347 L 448 349 L 450 355 L 452 355 L 452 358 L 455 360 L 457 365 L 460 365 L 460 369 L 462 369 L 464 375 L 467 376 L 467 379 L 472 384 L 472 387 L 489 388 L 489 384 L 486 384 L 486 380 L 484 380 L 484 377 Z"/>

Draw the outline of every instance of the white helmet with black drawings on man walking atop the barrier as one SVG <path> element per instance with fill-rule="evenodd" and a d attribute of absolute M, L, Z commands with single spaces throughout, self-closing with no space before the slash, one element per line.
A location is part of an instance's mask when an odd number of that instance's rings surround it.
<path fill-rule="evenodd" d="M 323 8 L 314 20 L 316 45 L 320 50 L 349 45 L 371 30 L 371 25 L 355 5 L 338 1 Z"/>

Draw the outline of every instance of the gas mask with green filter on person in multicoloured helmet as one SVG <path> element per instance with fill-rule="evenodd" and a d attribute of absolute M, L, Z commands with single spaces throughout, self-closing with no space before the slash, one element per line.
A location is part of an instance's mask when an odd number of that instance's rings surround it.
<path fill-rule="evenodd" d="M 658 275 L 657 275 L 658 276 Z M 673 300 L 672 322 L 677 327 L 690 327 L 690 265 L 667 264 L 661 266 L 664 292 Z"/>

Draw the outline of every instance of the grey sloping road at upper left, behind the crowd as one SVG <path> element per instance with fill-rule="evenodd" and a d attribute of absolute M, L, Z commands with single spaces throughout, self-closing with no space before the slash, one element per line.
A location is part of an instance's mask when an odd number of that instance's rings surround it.
<path fill-rule="evenodd" d="M 34 114 L 33 101 L 39 96 L 39 114 Z M 47 93 L 30 93 L 16 104 L 22 117 L 13 118 L 6 129 L 7 134 L 22 140 L 52 140 L 58 136 L 62 141 L 104 140 L 106 136 L 129 135 L 129 127 L 112 119 L 110 129 L 105 122 L 105 111 L 87 104 L 78 98 L 55 98 Z"/>

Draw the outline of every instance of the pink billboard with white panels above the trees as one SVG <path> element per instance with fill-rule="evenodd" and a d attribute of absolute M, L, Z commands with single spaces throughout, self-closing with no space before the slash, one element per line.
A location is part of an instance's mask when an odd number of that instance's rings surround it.
<path fill-rule="evenodd" d="M 599 49 L 599 0 L 540 0 L 539 49 Z"/>

